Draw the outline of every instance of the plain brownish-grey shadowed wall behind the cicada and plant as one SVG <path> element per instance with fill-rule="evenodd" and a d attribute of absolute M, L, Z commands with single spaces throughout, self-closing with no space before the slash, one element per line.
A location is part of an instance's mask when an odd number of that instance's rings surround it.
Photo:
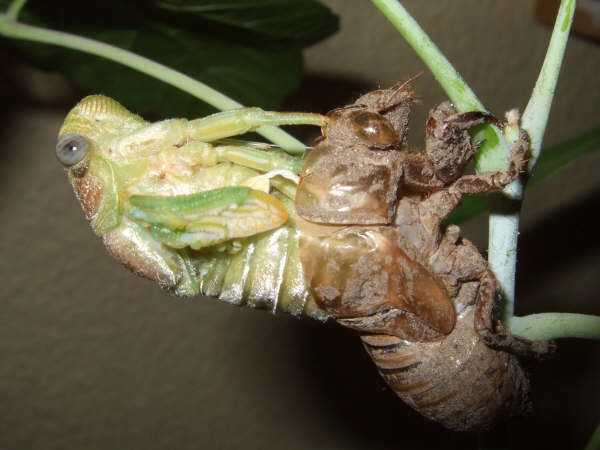
<path fill-rule="evenodd" d="M 370 2 L 324 3 L 341 31 L 306 51 L 305 80 L 286 109 L 326 112 L 425 70 Z M 525 106 L 550 36 L 533 0 L 404 4 L 492 111 Z M 476 447 L 475 435 L 425 422 L 397 400 L 352 332 L 168 297 L 124 270 L 54 157 L 79 93 L 6 58 L 0 449 Z M 599 72 L 598 42 L 573 36 L 545 146 L 600 123 Z M 411 142 L 420 145 L 427 109 L 445 96 L 428 72 L 414 87 L 422 105 Z M 599 170 L 600 153 L 527 193 L 520 314 L 600 314 Z M 463 229 L 485 250 L 485 218 Z M 535 370 L 534 414 L 510 425 L 512 448 L 582 448 L 600 422 L 600 343 L 559 344 Z"/>

